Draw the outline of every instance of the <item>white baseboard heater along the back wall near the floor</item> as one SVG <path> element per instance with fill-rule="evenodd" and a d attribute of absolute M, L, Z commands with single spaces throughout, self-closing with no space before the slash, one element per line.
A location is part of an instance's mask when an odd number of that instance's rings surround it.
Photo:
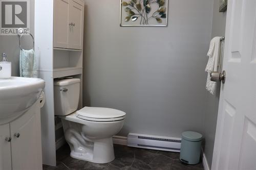
<path fill-rule="evenodd" d="M 180 152 L 180 144 L 181 138 L 144 135 L 137 133 L 129 133 L 127 136 L 127 145 L 129 147 Z"/>

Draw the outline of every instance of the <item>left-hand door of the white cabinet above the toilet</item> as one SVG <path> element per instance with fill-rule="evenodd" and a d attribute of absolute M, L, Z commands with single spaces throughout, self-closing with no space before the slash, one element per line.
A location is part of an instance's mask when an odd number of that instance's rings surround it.
<path fill-rule="evenodd" d="M 72 0 L 70 0 L 72 1 Z M 69 46 L 69 0 L 54 0 L 53 47 Z"/>

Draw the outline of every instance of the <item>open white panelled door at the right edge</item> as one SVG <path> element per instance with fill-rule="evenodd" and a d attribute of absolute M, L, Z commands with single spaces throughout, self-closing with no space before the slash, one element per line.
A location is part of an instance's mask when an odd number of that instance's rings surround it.
<path fill-rule="evenodd" d="M 256 169 L 256 1 L 229 0 L 212 170 Z"/>

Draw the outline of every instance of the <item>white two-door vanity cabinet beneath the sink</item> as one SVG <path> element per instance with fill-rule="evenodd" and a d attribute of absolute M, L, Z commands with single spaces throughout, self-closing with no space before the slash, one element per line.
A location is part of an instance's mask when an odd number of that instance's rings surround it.
<path fill-rule="evenodd" d="M 0 169 L 42 169 L 40 103 L 0 126 Z"/>

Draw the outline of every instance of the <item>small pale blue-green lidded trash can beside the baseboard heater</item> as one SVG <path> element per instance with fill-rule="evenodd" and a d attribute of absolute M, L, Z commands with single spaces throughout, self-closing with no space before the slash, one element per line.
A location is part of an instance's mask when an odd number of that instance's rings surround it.
<path fill-rule="evenodd" d="M 197 164 L 200 161 L 203 135 L 197 132 L 186 131 L 182 133 L 180 160 L 187 164 Z"/>

